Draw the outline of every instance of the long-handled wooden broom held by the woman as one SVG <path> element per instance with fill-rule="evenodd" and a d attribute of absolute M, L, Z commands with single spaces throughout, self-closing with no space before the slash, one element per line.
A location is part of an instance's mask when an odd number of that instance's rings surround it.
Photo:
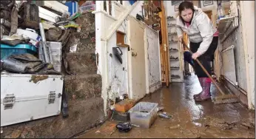
<path fill-rule="evenodd" d="M 183 40 L 182 40 L 183 41 Z M 186 43 L 184 43 L 184 41 L 182 42 L 183 45 L 186 47 L 187 50 L 189 50 L 189 52 L 193 53 L 189 47 L 186 45 Z M 216 82 L 213 80 L 212 76 L 209 75 L 209 73 L 207 72 L 207 70 L 203 67 L 203 65 L 201 64 L 200 61 L 198 61 L 198 59 L 195 59 L 195 61 L 198 62 L 198 64 L 200 65 L 200 67 L 203 69 L 203 72 L 206 73 L 206 75 L 211 79 L 212 83 L 215 84 L 215 86 L 217 87 L 217 89 L 221 92 L 221 96 L 218 97 L 214 97 L 212 98 L 212 102 L 214 104 L 234 104 L 234 103 L 238 103 L 239 102 L 239 98 L 236 95 L 226 95 L 222 89 L 220 89 L 220 87 L 218 86 L 218 84 L 216 84 Z"/>

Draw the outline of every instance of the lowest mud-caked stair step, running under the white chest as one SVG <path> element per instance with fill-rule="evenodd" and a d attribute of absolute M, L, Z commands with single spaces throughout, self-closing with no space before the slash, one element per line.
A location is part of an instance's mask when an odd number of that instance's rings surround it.
<path fill-rule="evenodd" d="M 70 138 L 105 120 L 102 98 L 68 101 L 69 117 L 57 115 L 4 126 L 1 138 Z"/>

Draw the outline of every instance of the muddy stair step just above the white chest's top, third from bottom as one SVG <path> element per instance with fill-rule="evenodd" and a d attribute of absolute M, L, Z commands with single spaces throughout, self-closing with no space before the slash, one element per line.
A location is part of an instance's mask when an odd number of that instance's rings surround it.
<path fill-rule="evenodd" d="M 96 74 L 96 54 L 92 52 L 67 52 L 67 62 L 70 71 L 77 75 Z"/>

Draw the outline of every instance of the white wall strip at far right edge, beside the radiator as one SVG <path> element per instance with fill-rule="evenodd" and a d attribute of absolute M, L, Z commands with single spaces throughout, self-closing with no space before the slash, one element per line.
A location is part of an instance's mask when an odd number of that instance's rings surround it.
<path fill-rule="evenodd" d="M 243 46 L 246 64 L 246 89 L 249 109 L 255 109 L 255 1 L 240 1 Z"/>

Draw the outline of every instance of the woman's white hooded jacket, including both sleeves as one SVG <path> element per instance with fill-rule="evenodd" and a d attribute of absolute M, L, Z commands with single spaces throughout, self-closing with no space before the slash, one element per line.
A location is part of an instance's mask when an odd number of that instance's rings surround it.
<path fill-rule="evenodd" d="M 217 31 L 212 25 L 212 21 L 203 13 L 201 8 L 194 6 L 195 12 L 192 18 L 192 22 L 189 27 L 184 25 L 181 21 L 181 17 L 178 16 L 176 20 L 176 29 L 178 37 L 182 36 L 182 31 L 184 31 L 189 36 L 189 41 L 200 44 L 198 52 L 201 55 L 208 50 L 209 45 L 212 43 L 213 34 Z"/>

